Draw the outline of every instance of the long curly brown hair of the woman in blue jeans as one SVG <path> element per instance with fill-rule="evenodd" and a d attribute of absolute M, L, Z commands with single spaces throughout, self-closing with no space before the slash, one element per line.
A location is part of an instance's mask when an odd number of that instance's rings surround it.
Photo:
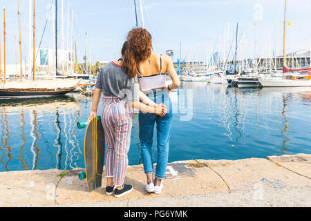
<path fill-rule="evenodd" d="M 122 68 L 131 78 L 137 74 L 138 64 L 151 55 L 151 35 L 144 28 L 133 28 L 126 37 L 127 48 L 122 55 Z"/>

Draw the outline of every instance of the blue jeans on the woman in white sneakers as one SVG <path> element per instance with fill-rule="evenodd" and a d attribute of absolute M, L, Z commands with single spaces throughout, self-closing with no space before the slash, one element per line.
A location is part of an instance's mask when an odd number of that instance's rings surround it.
<path fill-rule="evenodd" d="M 148 90 L 144 93 L 156 104 L 162 103 L 167 107 L 167 114 L 163 117 L 154 113 L 142 113 L 141 111 L 138 116 L 144 173 L 153 173 L 152 142 L 153 129 L 156 123 L 158 151 L 156 177 L 164 179 L 169 159 L 169 139 L 171 137 L 171 119 L 173 118 L 171 99 L 167 90 Z"/>

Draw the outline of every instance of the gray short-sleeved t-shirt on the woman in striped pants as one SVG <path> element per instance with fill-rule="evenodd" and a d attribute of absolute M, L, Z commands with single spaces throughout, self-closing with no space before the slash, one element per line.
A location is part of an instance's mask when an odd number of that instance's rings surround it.
<path fill-rule="evenodd" d="M 121 66 L 109 62 L 100 70 L 95 88 L 104 90 L 104 95 L 137 102 L 140 99 L 138 78 L 129 78 Z"/>

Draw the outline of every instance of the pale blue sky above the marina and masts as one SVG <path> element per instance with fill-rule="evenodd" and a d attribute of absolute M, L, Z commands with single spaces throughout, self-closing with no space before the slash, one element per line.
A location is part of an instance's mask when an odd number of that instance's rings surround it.
<path fill-rule="evenodd" d="M 21 26 L 23 55 L 28 53 L 28 0 L 21 1 Z M 52 0 L 36 0 L 36 44 L 38 46 L 48 17 Z M 54 0 L 55 2 L 55 0 Z M 70 3 L 73 10 L 73 35 L 79 39 L 78 59 L 84 56 L 84 35 L 88 32 L 88 44 L 96 60 L 117 59 L 126 33 L 135 27 L 133 0 L 64 0 L 64 48 L 66 48 L 66 12 Z M 136 0 L 138 5 L 139 0 Z M 144 21 L 153 36 L 153 49 L 164 53 L 175 50 L 174 60 L 206 60 L 214 50 L 223 52 L 232 45 L 238 22 L 238 56 L 269 56 L 276 47 L 276 54 L 283 52 L 283 0 L 144 0 Z M 62 48 L 62 0 L 58 0 L 58 38 Z M 15 35 L 18 39 L 17 0 L 1 0 L 6 7 L 7 57 L 15 63 Z M 311 1 L 288 0 L 287 52 L 311 48 Z M 138 8 L 139 13 L 139 8 Z M 139 15 L 138 15 L 139 16 Z M 140 20 L 140 16 L 138 17 Z M 229 40 L 227 26 L 229 22 Z M 0 42 L 3 55 L 3 10 L 0 10 Z M 41 48 L 52 48 L 52 19 L 48 20 Z M 70 33 L 70 32 L 69 32 Z M 241 35 L 243 33 L 243 35 Z M 71 35 L 71 34 L 69 34 Z M 218 41 L 217 41 L 218 39 Z M 227 44 L 227 41 L 229 44 Z M 217 42 L 217 44 L 216 44 Z M 70 41 L 69 41 L 70 44 Z M 18 45 L 17 45 L 18 48 Z M 232 45 L 234 48 L 234 45 Z M 233 52 L 233 50 L 232 50 Z M 19 50 L 17 50 L 19 55 Z M 89 52 L 87 52 L 87 55 Z M 230 54 L 229 57 L 232 57 Z M 3 63 L 3 59 L 2 59 Z"/>

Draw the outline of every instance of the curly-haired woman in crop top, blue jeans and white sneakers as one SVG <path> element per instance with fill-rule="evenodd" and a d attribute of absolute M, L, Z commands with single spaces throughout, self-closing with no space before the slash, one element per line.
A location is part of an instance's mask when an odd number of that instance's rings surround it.
<path fill-rule="evenodd" d="M 138 76 L 140 90 L 156 104 L 163 103 L 167 107 L 164 116 L 140 111 L 140 144 L 142 147 L 142 163 L 144 173 L 147 174 L 148 192 L 160 194 L 162 179 L 165 177 L 169 157 L 169 139 L 171 137 L 171 119 L 173 117 L 171 90 L 180 86 L 180 79 L 168 55 L 159 55 L 152 50 L 152 39 L 144 28 L 133 28 L 126 37 L 128 48 L 123 55 L 123 66 L 129 76 Z M 172 84 L 166 86 L 166 74 L 172 79 Z M 157 166 L 155 180 L 153 180 L 153 129 L 157 129 Z"/>

